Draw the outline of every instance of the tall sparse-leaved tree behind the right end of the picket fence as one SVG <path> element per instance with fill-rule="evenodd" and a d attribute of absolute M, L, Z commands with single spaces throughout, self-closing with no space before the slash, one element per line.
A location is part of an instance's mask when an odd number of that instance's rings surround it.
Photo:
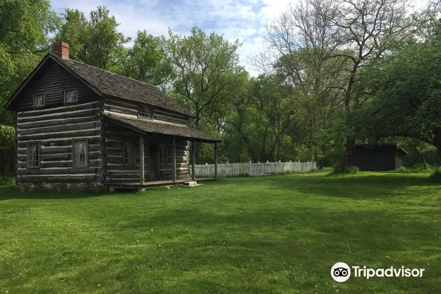
<path fill-rule="evenodd" d="M 302 142 L 313 150 L 320 168 L 326 144 L 332 140 L 323 130 L 336 118 L 350 66 L 343 56 L 335 56 L 347 52 L 339 48 L 339 31 L 330 21 L 332 5 L 330 0 L 289 5 L 267 25 L 269 48 L 253 60 L 258 70 L 291 96 L 291 107 L 303 119 Z"/>

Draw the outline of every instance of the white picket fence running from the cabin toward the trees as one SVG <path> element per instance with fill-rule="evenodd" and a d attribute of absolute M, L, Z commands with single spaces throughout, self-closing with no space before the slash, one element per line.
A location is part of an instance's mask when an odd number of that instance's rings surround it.
<path fill-rule="evenodd" d="M 316 169 L 315 162 L 265 162 L 265 163 L 221 163 L 218 164 L 218 175 L 235 176 L 247 174 L 250 176 L 268 175 L 271 173 L 283 172 L 311 172 Z M 190 166 L 190 173 L 192 167 Z M 196 164 L 195 173 L 197 177 L 215 176 L 214 164 Z"/>

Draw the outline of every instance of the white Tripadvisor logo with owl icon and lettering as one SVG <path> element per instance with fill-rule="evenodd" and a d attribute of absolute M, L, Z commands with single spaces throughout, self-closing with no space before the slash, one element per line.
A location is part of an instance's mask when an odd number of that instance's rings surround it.
<path fill-rule="evenodd" d="M 366 267 L 349 267 L 344 262 L 338 262 L 331 268 L 331 277 L 337 282 L 344 282 L 351 276 L 351 269 L 354 277 L 363 277 L 369 279 L 371 277 L 422 277 L 424 269 L 406 269 L 390 267 L 387 269 L 368 269 Z"/>

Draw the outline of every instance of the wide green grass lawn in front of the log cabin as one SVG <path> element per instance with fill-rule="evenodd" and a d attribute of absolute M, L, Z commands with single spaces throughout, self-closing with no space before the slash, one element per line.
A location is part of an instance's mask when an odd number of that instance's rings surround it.
<path fill-rule="evenodd" d="M 0 187 L 0 294 L 441 293 L 426 173 L 223 178 L 139 194 Z M 337 262 L 422 278 L 330 276 Z"/>

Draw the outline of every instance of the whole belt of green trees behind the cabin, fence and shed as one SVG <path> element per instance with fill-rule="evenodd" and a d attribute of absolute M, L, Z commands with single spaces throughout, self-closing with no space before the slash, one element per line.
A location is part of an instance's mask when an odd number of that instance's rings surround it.
<path fill-rule="evenodd" d="M 440 164 L 441 29 L 439 22 L 427 22 L 437 8 L 409 15 L 399 13 L 407 0 L 349 2 L 290 5 L 268 24 L 270 51 L 253 60 L 263 74 L 250 78 L 239 65 L 241 44 L 215 32 L 195 26 L 189 35 L 155 37 L 138 31 L 133 46 L 124 47 L 131 38 L 118 31 L 104 6 L 90 18 L 70 8 L 60 18 L 49 0 L 4 0 L 0 102 L 52 41 L 63 41 L 72 59 L 157 85 L 191 110 L 191 126 L 223 139 L 219 162 L 315 160 L 333 166 L 348 143 L 392 136 L 388 140 L 410 151 L 406 165 Z M 0 123 L 12 122 L 3 110 Z M 196 162 L 211 163 L 213 153 L 213 146 L 196 144 Z"/>

